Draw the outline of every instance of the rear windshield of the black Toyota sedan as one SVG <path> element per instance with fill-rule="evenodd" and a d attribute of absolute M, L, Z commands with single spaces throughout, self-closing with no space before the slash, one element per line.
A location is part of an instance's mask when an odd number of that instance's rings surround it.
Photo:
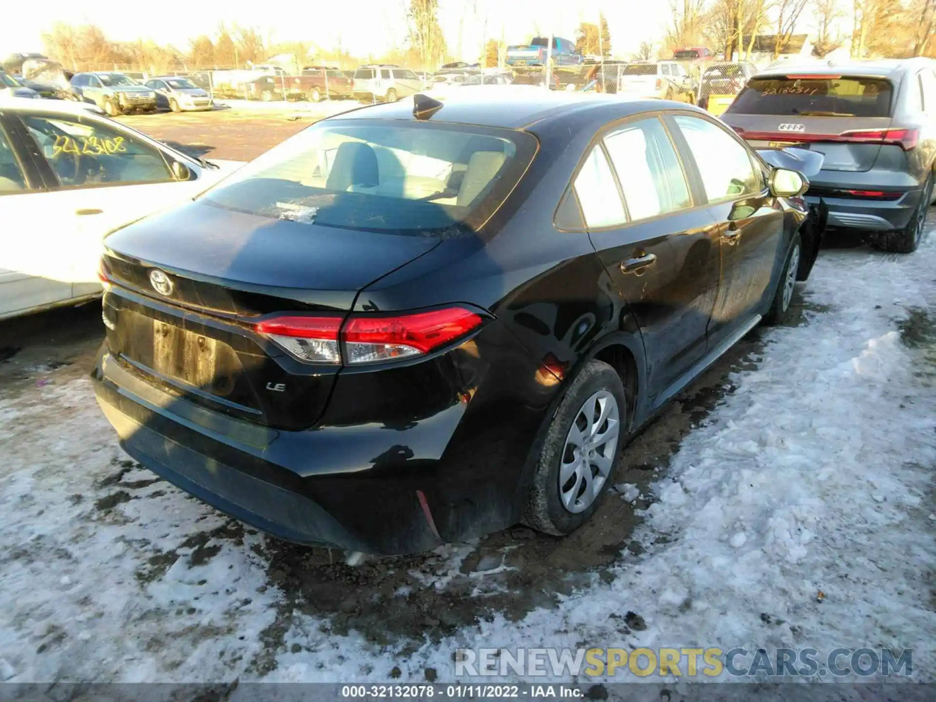
<path fill-rule="evenodd" d="M 483 225 L 536 152 L 525 132 L 460 124 L 315 124 L 209 190 L 238 212 L 392 234 Z"/>

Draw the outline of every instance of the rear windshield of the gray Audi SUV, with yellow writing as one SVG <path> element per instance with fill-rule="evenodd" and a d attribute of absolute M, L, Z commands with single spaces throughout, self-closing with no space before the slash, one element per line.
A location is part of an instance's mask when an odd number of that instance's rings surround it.
<path fill-rule="evenodd" d="M 728 108 L 736 114 L 888 117 L 893 93 L 881 78 L 754 78 Z"/>

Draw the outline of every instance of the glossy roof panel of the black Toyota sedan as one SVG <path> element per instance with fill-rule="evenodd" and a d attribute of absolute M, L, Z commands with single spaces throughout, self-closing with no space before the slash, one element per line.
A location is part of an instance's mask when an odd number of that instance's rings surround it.
<path fill-rule="evenodd" d="M 524 129 L 553 117 L 567 117 L 572 112 L 586 117 L 589 112 L 594 111 L 595 119 L 600 121 L 603 118 L 598 113 L 604 113 L 611 108 L 615 108 L 610 110 L 614 112 L 614 116 L 609 119 L 620 119 L 630 114 L 661 110 L 665 107 L 703 111 L 685 104 L 667 103 L 664 100 L 627 100 L 618 95 L 552 91 L 535 85 L 478 85 L 465 93 L 467 95 L 446 95 L 442 100 L 443 107 L 432 115 L 430 121 Z M 413 115 L 413 101 L 404 99 L 395 103 L 351 110 L 328 118 L 331 121 L 369 119 L 416 121 Z"/>

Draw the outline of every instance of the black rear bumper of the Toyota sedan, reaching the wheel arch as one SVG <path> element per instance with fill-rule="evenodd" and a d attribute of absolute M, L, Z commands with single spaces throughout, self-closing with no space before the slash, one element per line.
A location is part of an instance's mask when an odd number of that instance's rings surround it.
<path fill-rule="evenodd" d="M 503 334 L 497 327 L 490 325 Z M 517 363 L 478 377 L 474 399 L 435 404 L 393 423 L 352 422 L 361 393 L 375 388 L 369 373 L 348 374 L 329 403 L 332 419 L 303 431 L 191 402 L 118 361 L 107 342 L 91 375 L 124 450 L 209 505 L 300 544 L 414 553 L 504 529 L 525 504 L 521 475 L 558 388 L 542 388 L 538 402 L 529 391 L 512 397 L 508 388 L 535 384 L 537 364 L 525 350 L 505 349 L 503 336 L 492 341 Z M 486 343 L 475 343 L 486 358 Z M 471 370 L 461 366 L 461 373 Z M 434 392 L 431 384 L 424 389 Z"/>

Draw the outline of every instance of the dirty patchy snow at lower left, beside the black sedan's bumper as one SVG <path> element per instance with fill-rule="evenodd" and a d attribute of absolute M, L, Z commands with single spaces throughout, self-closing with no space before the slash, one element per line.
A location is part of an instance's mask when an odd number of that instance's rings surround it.
<path fill-rule="evenodd" d="M 0 679 L 227 679 L 262 649 L 262 537 L 132 468 L 89 381 L 0 402 L 0 452 Z"/>

